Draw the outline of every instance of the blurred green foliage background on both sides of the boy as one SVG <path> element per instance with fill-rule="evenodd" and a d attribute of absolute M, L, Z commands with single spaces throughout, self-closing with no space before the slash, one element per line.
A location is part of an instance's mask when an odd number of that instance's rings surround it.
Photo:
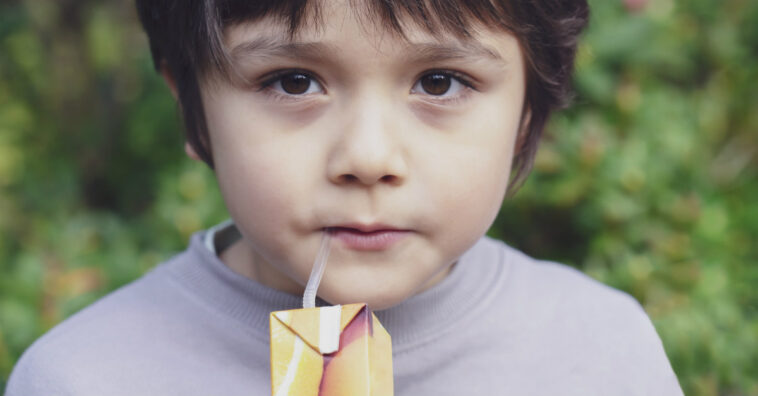
<path fill-rule="evenodd" d="M 758 2 L 596 0 L 576 105 L 491 234 L 634 295 L 688 395 L 758 395 Z M 0 3 L 0 389 L 225 218 L 131 1 Z"/>

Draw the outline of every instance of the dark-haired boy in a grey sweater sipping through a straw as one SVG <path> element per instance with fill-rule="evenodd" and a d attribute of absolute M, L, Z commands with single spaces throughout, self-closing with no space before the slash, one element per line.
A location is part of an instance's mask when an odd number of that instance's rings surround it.
<path fill-rule="evenodd" d="M 265 395 L 268 314 L 366 302 L 396 395 L 678 395 L 630 297 L 484 238 L 568 97 L 574 1 L 138 0 L 232 221 L 71 317 L 10 396 Z M 515 178 L 511 178 L 511 169 Z"/>

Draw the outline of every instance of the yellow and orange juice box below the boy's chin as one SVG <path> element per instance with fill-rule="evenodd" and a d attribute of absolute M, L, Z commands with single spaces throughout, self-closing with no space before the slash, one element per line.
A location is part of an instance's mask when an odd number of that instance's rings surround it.
<path fill-rule="evenodd" d="M 392 342 L 366 304 L 272 312 L 273 396 L 392 396 Z"/>

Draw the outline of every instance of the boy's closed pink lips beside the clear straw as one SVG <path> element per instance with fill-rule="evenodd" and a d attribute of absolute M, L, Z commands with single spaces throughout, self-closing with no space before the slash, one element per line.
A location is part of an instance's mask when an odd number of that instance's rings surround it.
<path fill-rule="evenodd" d="M 324 228 L 324 231 L 343 247 L 360 251 L 387 250 L 411 233 L 383 224 L 341 224 Z"/>

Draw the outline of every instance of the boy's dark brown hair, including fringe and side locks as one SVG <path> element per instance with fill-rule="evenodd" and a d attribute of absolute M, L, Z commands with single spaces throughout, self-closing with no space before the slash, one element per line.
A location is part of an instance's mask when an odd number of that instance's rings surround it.
<path fill-rule="evenodd" d="M 328 0 L 326 0 L 328 1 Z M 226 75 L 223 32 L 228 26 L 275 17 L 291 35 L 305 19 L 319 22 L 319 1 L 308 0 L 136 0 L 150 41 L 156 69 L 173 75 L 184 116 L 186 138 L 213 167 L 203 114 L 199 76 Z M 589 19 L 586 0 L 351 0 L 362 15 L 373 17 L 401 36 L 410 20 L 430 33 L 470 35 L 474 23 L 516 36 L 526 58 L 524 114 L 530 119 L 514 156 L 511 187 L 531 169 L 550 114 L 568 105 L 577 39 Z M 360 7 L 360 8 L 359 8 Z M 522 120 L 524 119 L 522 114 Z"/>

